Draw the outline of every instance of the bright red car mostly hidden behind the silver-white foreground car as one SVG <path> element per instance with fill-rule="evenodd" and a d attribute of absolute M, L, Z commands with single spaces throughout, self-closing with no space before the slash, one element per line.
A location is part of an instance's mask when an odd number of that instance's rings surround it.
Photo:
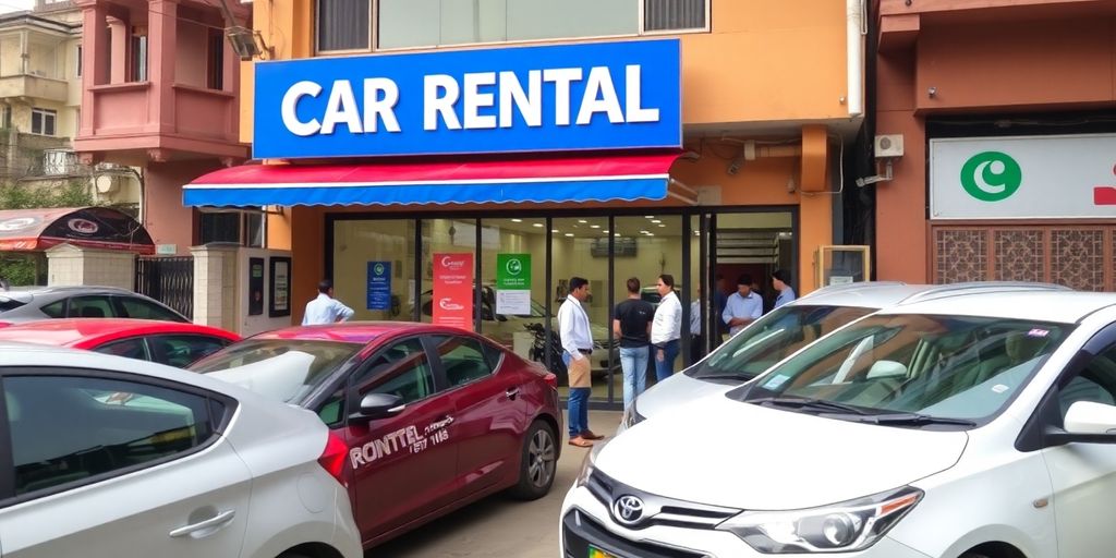
<path fill-rule="evenodd" d="M 184 368 L 240 340 L 215 327 L 131 318 L 62 318 L 0 328 L 0 341 L 73 347 Z"/>

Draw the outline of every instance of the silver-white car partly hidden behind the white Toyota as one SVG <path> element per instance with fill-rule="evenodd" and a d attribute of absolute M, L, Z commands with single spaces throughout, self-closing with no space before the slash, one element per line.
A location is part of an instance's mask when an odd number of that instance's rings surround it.
<path fill-rule="evenodd" d="M 821 336 L 883 308 L 929 297 L 1001 290 L 1069 289 L 1013 281 L 939 286 L 881 281 L 822 288 L 768 312 L 693 366 L 647 388 L 624 411 L 617 433 L 664 410 L 748 382 Z"/>

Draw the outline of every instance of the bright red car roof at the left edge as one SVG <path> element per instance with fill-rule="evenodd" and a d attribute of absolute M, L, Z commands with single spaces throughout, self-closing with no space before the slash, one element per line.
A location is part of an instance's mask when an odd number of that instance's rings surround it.
<path fill-rule="evenodd" d="M 156 334 L 211 335 L 232 340 L 240 339 L 231 331 L 198 324 L 132 318 L 61 318 L 0 328 L 0 341 L 73 346 L 85 340 Z"/>

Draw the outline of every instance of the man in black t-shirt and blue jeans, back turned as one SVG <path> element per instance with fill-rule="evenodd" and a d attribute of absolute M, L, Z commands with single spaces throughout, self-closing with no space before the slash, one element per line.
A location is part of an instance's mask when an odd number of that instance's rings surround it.
<path fill-rule="evenodd" d="M 651 357 L 651 319 L 655 307 L 639 298 L 639 279 L 627 280 L 628 298 L 616 305 L 613 333 L 620 340 L 620 368 L 624 371 L 624 408 L 647 386 L 647 359 Z"/>

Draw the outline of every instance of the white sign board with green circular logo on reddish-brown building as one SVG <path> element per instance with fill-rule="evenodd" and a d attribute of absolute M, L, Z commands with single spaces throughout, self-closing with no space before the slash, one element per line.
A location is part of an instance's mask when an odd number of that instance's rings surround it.
<path fill-rule="evenodd" d="M 1116 219 L 1116 134 L 930 141 L 931 219 Z"/>

